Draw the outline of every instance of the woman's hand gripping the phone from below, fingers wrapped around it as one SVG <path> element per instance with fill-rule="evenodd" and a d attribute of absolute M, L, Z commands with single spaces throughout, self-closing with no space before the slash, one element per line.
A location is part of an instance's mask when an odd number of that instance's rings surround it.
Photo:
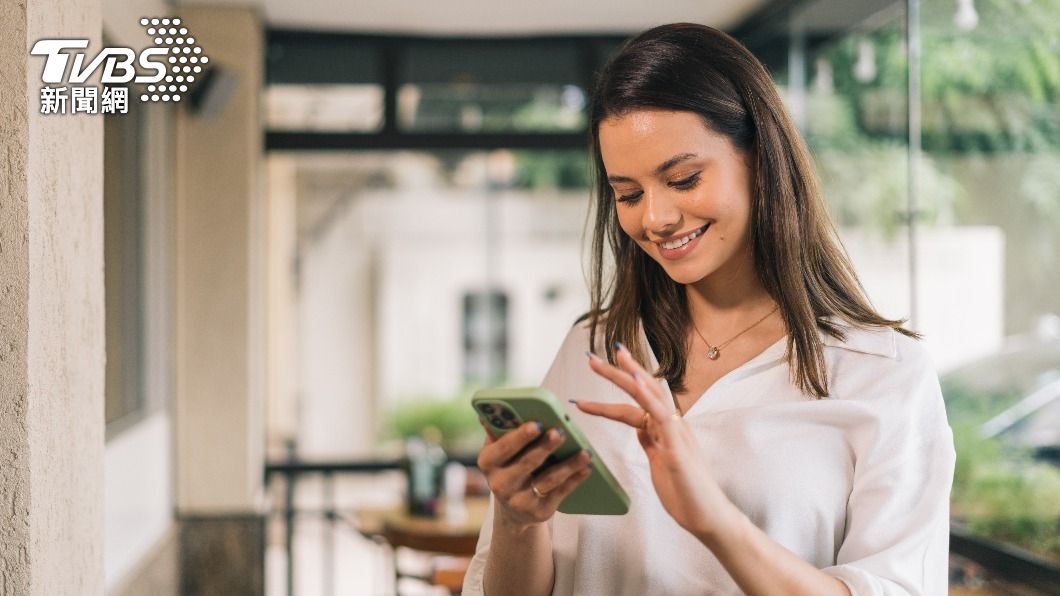
<path fill-rule="evenodd" d="M 589 454 L 583 450 L 531 476 L 566 439 L 559 428 L 542 431 L 540 423 L 526 422 L 498 439 L 485 428 L 478 454 L 478 468 L 496 499 L 498 515 L 516 528 L 547 522 L 591 471 Z M 545 496 L 534 494 L 530 480 Z"/>

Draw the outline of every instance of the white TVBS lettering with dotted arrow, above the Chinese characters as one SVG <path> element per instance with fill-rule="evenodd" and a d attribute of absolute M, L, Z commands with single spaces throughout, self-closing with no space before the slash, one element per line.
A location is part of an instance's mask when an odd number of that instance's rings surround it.
<path fill-rule="evenodd" d="M 180 101 L 210 58 L 202 55 L 202 48 L 179 18 L 142 18 L 140 24 L 154 46 L 139 53 L 130 48 L 104 48 L 89 59 L 80 51 L 88 48 L 88 39 L 40 39 L 34 43 L 30 53 L 46 57 L 41 82 L 48 86 L 49 97 L 55 95 L 51 91 L 66 89 L 52 85 L 83 84 L 100 71 L 100 82 L 107 86 L 147 85 L 147 92 L 140 95 L 142 101 Z M 42 99 L 45 94 L 42 90 Z"/>

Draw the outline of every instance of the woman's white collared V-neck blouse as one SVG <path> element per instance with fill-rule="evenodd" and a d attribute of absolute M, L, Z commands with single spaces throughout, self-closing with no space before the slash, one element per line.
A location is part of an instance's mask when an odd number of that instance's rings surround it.
<path fill-rule="evenodd" d="M 891 329 L 846 331 L 846 341 L 820 332 L 831 397 L 813 400 L 791 384 L 784 337 L 719 379 L 685 421 L 728 498 L 854 596 L 946 594 L 955 454 L 938 375 L 915 339 Z M 651 354 L 646 368 L 654 371 L 658 361 L 642 328 L 640 341 Z M 741 594 L 710 550 L 662 508 L 635 431 L 567 402 L 634 403 L 589 369 L 588 349 L 582 321 L 567 333 L 542 386 L 567 407 L 595 457 L 625 489 L 630 511 L 553 515 L 552 594 Z M 482 594 L 492 501 L 465 596 Z"/>

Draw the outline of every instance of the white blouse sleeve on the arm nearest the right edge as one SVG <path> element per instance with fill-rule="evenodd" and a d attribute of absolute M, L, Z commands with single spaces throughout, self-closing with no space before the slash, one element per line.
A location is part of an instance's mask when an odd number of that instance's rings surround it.
<path fill-rule="evenodd" d="M 854 464 L 836 564 L 853 596 L 948 593 L 950 489 L 956 454 L 938 375 L 926 357 L 896 376 L 900 414 Z M 889 428 L 888 428 L 889 426 Z"/>

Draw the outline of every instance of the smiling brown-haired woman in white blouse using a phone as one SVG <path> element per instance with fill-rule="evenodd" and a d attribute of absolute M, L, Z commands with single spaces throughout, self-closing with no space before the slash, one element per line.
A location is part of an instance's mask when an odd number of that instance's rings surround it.
<path fill-rule="evenodd" d="M 866 299 L 761 64 L 710 28 L 652 29 L 601 72 L 589 126 L 590 311 L 543 386 L 631 509 L 555 511 L 590 457 L 531 476 L 555 430 L 488 437 L 464 594 L 946 594 L 938 376 Z"/>

